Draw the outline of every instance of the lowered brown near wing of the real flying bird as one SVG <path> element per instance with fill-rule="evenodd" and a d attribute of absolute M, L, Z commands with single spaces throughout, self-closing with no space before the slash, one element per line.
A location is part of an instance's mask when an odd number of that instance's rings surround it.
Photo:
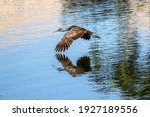
<path fill-rule="evenodd" d="M 67 50 L 74 40 L 83 37 L 86 32 L 87 31 L 83 28 L 70 29 L 56 45 L 55 51 L 62 52 Z"/>

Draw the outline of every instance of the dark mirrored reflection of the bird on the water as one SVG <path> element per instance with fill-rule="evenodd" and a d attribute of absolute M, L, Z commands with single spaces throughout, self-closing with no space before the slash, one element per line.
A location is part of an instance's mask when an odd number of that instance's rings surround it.
<path fill-rule="evenodd" d="M 76 62 L 76 66 L 73 65 L 70 59 L 65 55 L 56 54 L 56 58 L 63 66 L 63 68 L 58 68 L 58 70 L 67 71 L 72 76 L 77 76 L 84 72 L 91 71 L 90 58 L 88 56 L 80 57 Z"/>

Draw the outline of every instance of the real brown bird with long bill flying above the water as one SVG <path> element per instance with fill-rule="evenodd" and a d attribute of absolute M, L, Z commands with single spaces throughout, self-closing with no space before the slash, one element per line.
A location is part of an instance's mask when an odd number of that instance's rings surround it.
<path fill-rule="evenodd" d="M 83 38 L 85 40 L 89 40 L 91 36 L 93 36 L 94 38 L 100 38 L 99 36 L 95 35 L 93 32 L 85 28 L 79 27 L 79 26 L 70 26 L 66 30 L 59 28 L 55 32 L 65 32 L 65 31 L 68 31 L 68 32 L 59 41 L 59 43 L 57 44 L 55 48 L 55 51 L 57 52 L 62 52 L 62 51 L 67 50 L 72 44 L 72 42 L 78 38 Z"/>

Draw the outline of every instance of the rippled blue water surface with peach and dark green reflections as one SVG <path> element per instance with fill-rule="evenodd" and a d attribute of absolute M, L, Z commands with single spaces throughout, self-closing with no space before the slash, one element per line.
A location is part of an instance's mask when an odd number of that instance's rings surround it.
<path fill-rule="evenodd" d="M 70 25 L 102 39 L 55 53 Z M 0 66 L 0 99 L 150 99 L 150 1 L 1 0 Z"/>

